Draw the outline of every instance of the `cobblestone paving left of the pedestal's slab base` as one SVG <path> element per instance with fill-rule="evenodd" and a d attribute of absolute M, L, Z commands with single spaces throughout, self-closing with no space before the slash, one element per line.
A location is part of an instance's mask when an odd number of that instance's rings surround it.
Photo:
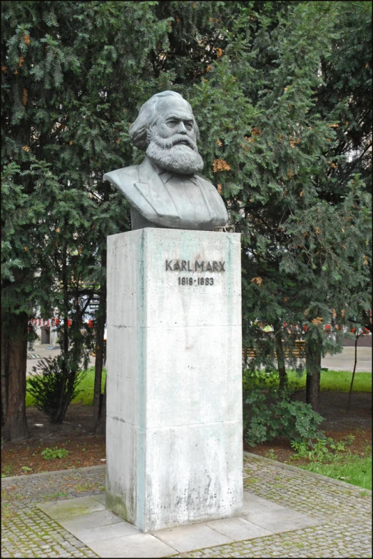
<path fill-rule="evenodd" d="M 105 490 L 105 466 L 1 480 L 1 558 L 97 557 L 35 503 Z"/>

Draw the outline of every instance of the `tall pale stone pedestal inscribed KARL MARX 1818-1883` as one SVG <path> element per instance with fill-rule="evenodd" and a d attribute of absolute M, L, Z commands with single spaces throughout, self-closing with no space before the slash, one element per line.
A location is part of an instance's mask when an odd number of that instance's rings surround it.
<path fill-rule="evenodd" d="M 108 237 L 106 505 L 143 532 L 242 508 L 240 234 Z"/>

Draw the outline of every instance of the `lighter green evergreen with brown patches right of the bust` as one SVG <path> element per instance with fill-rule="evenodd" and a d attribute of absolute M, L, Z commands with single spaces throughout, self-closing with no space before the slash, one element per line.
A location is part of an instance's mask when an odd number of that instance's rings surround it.
<path fill-rule="evenodd" d="M 344 37 L 338 19 L 342 3 L 292 3 L 282 9 L 272 4 L 236 4 L 239 14 L 227 32 L 226 53 L 195 86 L 193 104 L 203 114 L 208 178 L 218 183 L 242 232 L 243 335 L 245 344 L 258 350 L 251 365 L 272 369 L 276 350 L 283 387 L 284 350 L 302 333 L 307 402 L 317 409 L 321 357 L 339 351 L 342 342 L 335 309 L 340 317 L 346 312 L 342 301 L 349 300 L 349 316 L 356 320 L 357 306 L 370 306 L 371 210 L 353 167 L 343 185 L 330 172 L 338 115 L 333 107 L 326 118 L 317 98 L 320 81 L 328 85 L 321 62 L 332 64 L 335 44 Z M 339 196 L 331 199 L 334 191 Z M 348 232 L 346 220 L 352 220 Z M 272 339 L 260 322 L 275 327 Z"/>

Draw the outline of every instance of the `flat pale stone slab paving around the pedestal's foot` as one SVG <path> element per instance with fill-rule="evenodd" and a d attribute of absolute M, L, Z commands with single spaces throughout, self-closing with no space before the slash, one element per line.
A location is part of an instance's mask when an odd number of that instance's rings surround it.
<path fill-rule="evenodd" d="M 320 520 L 298 513 L 290 508 L 272 504 L 254 493 L 244 492 L 245 507 L 242 518 L 225 518 L 224 520 L 195 523 L 178 528 L 156 530 L 146 538 L 133 525 L 126 523 L 117 515 L 105 510 L 104 505 L 93 497 L 69 499 L 63 503 L 41 503 L 36 506 L 63 528 L 71 532 L 78 540 L 85 543 L 100 557 L 120 557 L 123 553 L 134 553 L 133 542 L 137 546 L 141 540 L 149 557 L 158 557 L 175 552 L 185 553 L 210 548 L 215 545 L 233 543 L 237 540 L 249 540 L 272 533 L 306 528 L 320 523 Z M 99 498 L 99 495 L 98 495 Z M 98 508 L 102 510 L 98 510 Z M 242 516 L 241 515 L 241 516 Z M 105 529 L 106 528 L 106 529 Z M 118 533 L 121 532 L 121 533 Z M 126 536 L 138 535 L 138 538 Z M 159 546 L 158 540 L 168 545 L 168 549 Z M 106 545 L 107 544 L 107 545 Z M 103 555 L 104 554 L 104 555 Z M 164 555 L 163 555 L 164 556 Z"/>

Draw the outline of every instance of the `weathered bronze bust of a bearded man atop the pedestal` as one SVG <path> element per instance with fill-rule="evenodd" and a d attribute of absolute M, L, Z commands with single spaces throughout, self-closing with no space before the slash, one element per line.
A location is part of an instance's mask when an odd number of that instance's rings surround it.
<path fill-rule="evenodd" d="M 199 130 L 192 107 L 175 91 L 150 97 L 129 129 L 146 150 L 140 165 L 103 175 L 131 205 L 132 229 L 169 227 L 210 231 L 228 222 L 223 199 L 198 172 Z"/>

